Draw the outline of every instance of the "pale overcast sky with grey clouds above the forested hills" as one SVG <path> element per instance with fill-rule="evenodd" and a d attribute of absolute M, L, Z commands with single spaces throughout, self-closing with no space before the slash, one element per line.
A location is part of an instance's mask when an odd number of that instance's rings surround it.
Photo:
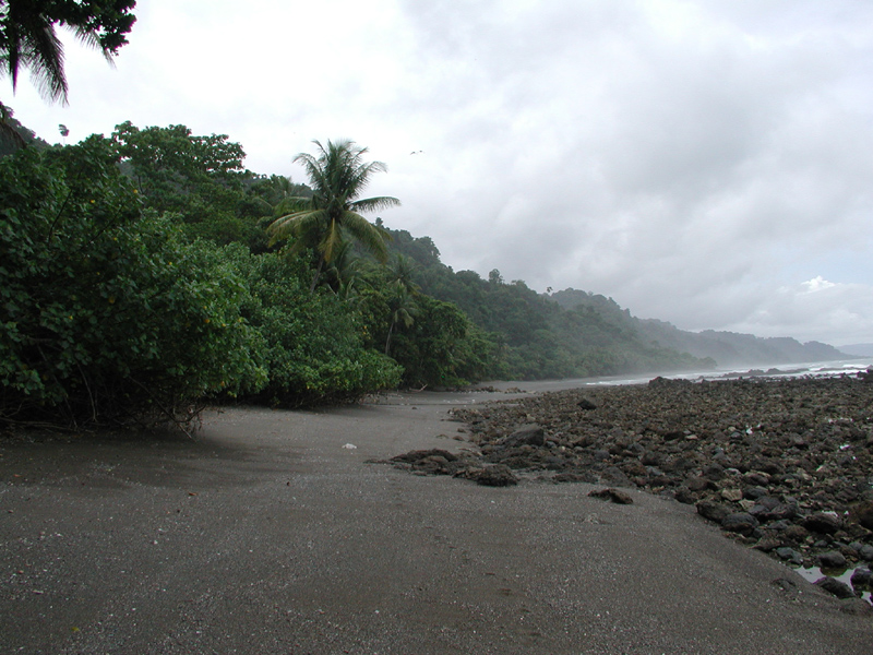
<path fill-rule="evenodd" d="M 349 138 L 456 271 L 641 318 L 873 342 L 866 0 L 140 0 L 115 69 L 65 39 L 68 142 L 182 123 L 256 172 Z M 415 153 L 415 154 L 412 154 Z"/>

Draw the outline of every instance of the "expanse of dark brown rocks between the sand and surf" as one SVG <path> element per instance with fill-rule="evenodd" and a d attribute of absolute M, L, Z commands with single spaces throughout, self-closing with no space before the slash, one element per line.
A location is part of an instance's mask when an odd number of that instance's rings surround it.
<path fill-rule="evenodd" d="M 394 457 L 486 485 L 519 478 L 636 488 L 693 504 L 787 563 L 873 562 L 873 374 L 598 386 L 453 412 L 475 448 Z M 846 585 L 844 585 L 846 586 Z"/>

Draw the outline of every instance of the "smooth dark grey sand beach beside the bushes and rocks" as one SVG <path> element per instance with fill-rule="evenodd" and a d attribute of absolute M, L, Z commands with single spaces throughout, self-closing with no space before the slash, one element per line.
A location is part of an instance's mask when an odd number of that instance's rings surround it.
<path fill-rule="evenodd" d="M 505 397 L 0 442 L 0 653 L 870 652 L 873 618 L 692 507 L 371 462 L 463 449 L 447 409 Z"/>

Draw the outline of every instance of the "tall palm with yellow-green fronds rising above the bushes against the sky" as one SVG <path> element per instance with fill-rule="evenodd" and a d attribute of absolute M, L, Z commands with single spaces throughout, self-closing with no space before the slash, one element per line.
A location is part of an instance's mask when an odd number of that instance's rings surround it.
<path fill-rule="evenodd" d="M 312 277 L 314 290 L 325 264 L 331 264 L 339 254 L 345 236 L 360 242 L 376 259 L 387 259 L 385 241 L 388 234 L 367 221 L 359 212 L 372 212 L 398 206 L 400 201 L 387 195 L 358 199 L 367 188 L 370 176 L 383 172 L 387 167 L 382 162 L 363 162 L 366 147 L 354 141 L 328 141 L 327 146 L 313 141 L 318 157 L 300 153 L 295 162 L 303 165 L 312 187 L 312 198 L 291 198 L 286 201 L 287 214 L 276 218 L 270 226 L 272 242 L 292 239 L 291 252 L 312 248 L 318 255 L 318 266 Z"/>

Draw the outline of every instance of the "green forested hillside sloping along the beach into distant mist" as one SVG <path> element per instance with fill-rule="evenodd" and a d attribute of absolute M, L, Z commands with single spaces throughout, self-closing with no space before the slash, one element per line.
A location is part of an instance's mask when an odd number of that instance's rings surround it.
<path fill-rule="evenodd" d="M 455 272 L 430 238 L 361 215 L 399 202 L 361 198 L 384 165 L 354 142 L 315 146 L 298 156 L 309 184 L 251 172 L 240 144 L 184 126 L 12 147 L 0 422 L 186 425 L 205 402 L 810 358 L 792 340 L 692 335 L 602 296 Z"/>

